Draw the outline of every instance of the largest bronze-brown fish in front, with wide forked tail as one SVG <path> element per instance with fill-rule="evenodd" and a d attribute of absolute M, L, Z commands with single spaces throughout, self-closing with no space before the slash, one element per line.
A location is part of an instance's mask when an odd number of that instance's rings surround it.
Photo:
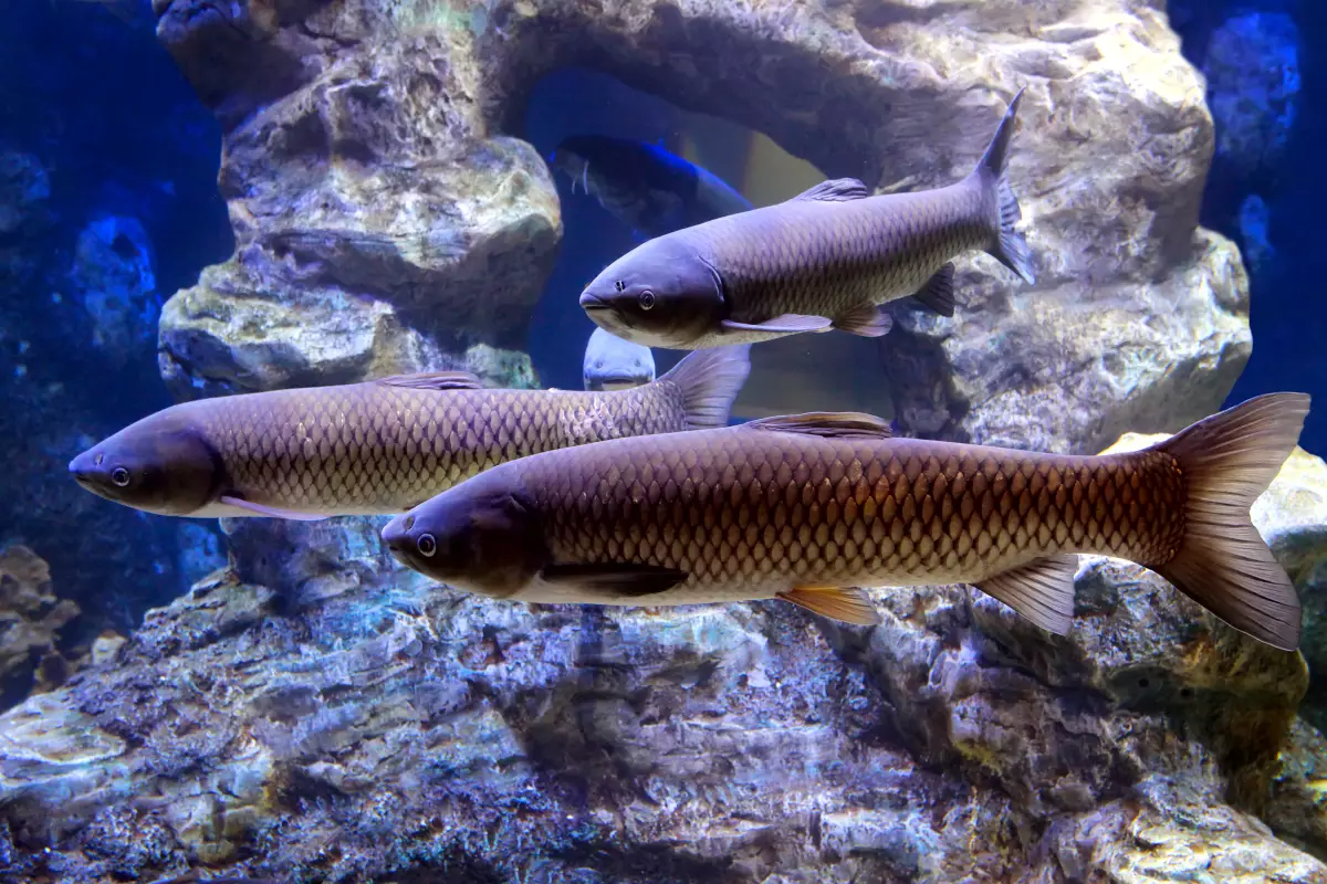
<path fill-rule="evenodd" d="M 782 598 L 878 619 L 860 586 L 970 583 L 1051 632 L 1074 553 L 1131 559 L 1278 648 L 1299 600 L 1249 518 L 1308 396 L 1271 394 L 1141 452 L 1059 456 L 894 439 L 869 415 L 768 417 L 503 464 L 395 517 L 410 567 L 525 602 Z"/>

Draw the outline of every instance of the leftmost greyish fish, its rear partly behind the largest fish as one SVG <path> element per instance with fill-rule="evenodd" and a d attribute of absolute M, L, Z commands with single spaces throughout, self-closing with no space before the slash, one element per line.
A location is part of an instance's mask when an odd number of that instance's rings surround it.
<path fill-rule="evenodd" d="M 162 516 L 394 514 L 514 457 L 723 427 L 750 370 L 748 349 L 731 347 L 617 392 L 487 390 L 437 372 L 202 399 L 130 424 L 69 472 Z"/>

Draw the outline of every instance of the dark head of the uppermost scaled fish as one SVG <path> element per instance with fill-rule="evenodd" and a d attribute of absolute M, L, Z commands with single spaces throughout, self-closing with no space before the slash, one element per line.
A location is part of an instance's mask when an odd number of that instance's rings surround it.
<path fill-rule="evenodd" d="M 624 341 L 686 349 L 723 318 L 723 281 L 689 237 L 670 233 L 609 264 L 585 286 L 580 305 L 594 325 Z"/>

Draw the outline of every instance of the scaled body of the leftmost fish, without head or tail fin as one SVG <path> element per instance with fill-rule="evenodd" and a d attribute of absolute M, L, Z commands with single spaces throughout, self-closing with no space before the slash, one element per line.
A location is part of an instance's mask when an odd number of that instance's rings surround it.
<path fill-rule="evenodd" d="M 230 494 L 324 516 L 399 513 L 507 460 L 687 428 L 671 384 L 612 395 L 369 382 L 191 404 Z"/>

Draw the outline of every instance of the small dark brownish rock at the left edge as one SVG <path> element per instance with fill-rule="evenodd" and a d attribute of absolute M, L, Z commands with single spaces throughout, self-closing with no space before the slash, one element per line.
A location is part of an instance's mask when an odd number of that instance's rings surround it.
<path fill-rule="evenodd" d="M 60 656 L 60 630 L 76 616 L 78 606 L 50 591 L 50 569 L 36 553 L 0 550 L 0 708 L 28 692 L 35 672 L 41 687 L 41 664 Z"/>

